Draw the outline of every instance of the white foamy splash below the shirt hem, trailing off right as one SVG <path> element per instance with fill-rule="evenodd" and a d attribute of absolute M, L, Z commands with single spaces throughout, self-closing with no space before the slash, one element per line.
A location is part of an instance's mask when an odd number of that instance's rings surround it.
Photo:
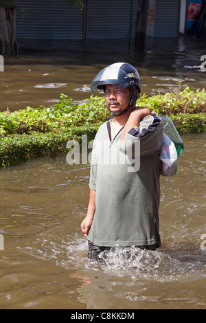
<path fill-rule="evenodd" d="M 143 275 L 146 278 L 184 280 L 193 274 L 203 274 L 205 265 L 201 261 L 182 261 L 170 254 L 159 251 L 142 250 L 137 247 L 116 247 L 100 254 L 100 263 L 110 273 L 122 275 Z"/>

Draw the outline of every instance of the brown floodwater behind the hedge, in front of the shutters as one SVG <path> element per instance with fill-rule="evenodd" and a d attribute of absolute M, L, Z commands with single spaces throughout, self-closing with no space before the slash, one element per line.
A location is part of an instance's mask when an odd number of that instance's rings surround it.
<path fill-rule="evenodd" d="M 112 47 L 95 43 L 79 52 L 49 51 L 35 56 L 24 52 L 5 57 L 5 71 L 0 74 L 0 111 L 48 107 L 59 102 L 61 93 L 80 103 L 91 95 L 89 85 L 98 71 L 117 61 L 126 61 L 138 69 L 141 93 L 148 96 L 173 91 L 177 82 L 202 89 L 206 72 L 200 65 L 205 45 L 205 40 L 194 38 L 159 38 L 150 50 L 129 51 L 116 44 Z"/>

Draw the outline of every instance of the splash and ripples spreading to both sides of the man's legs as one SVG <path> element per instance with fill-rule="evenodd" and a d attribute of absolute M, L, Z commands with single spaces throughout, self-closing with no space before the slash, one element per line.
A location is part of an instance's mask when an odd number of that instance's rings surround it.
<path fill-rule="evenodd" d="M 54 230 L 54 228 L 53 228 Z M 60 236 L 60 235 L 58 235 Z M 51 238 L 51 239 L 50 239 Z M 144 278 L 159 282 L 174 280 L 194 280 L 199 275 L 205 275 L 206 266 L 201 257 L 182 258 L 178 250 L 168 249 L 167 252 L 133 247 L 113 247 L 100 254 L 100 261 L 87 258 L 88 246 L 84 238 L 78 234 L 67 235 L 66 238 L 54 236 L 47 238 L 42 234 L 36 238 L 34 244 L 25 247 L 24 252 L 43 260 L 54 260 L 58 267 L 64 269 L 86 269 L 89 272 L 99 271 L 102 274 Z M 181 254 L 183 250 L 181 250 Z"/>

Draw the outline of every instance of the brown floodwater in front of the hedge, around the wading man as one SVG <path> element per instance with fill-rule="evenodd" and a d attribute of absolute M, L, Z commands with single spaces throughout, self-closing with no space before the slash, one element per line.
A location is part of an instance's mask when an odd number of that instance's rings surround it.
<path fill-rule="evenodd" d="M 88 260 L 80 231 L 89 165 L 62 156 L 1 170 L 0 308 L 205 309 L 205 139 L 183 136 L 178 172 L 161 177 L 161 248 L 117 247 L 104 263 Z"/>

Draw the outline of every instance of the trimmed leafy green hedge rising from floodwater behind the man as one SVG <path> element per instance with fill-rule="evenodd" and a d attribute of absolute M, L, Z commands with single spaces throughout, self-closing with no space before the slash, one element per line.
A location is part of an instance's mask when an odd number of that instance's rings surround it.
<path fill-rule="evenodd" d="M 205 90 L 185 87 L 164 96 L 141 96 L 140 107 L 149 107 L 159 115 L 168 115 L 180 134 L 206 131 Z M 104 98 L 91 96 L 77 106 L 62 94 L 54 107 L 27 107 L 0 113 L 0 166 L 44 155 L 66 152 L 68 140 L 80 140 L 87 134 L 92 140 L 100 124 L 109 117 Z"/>

